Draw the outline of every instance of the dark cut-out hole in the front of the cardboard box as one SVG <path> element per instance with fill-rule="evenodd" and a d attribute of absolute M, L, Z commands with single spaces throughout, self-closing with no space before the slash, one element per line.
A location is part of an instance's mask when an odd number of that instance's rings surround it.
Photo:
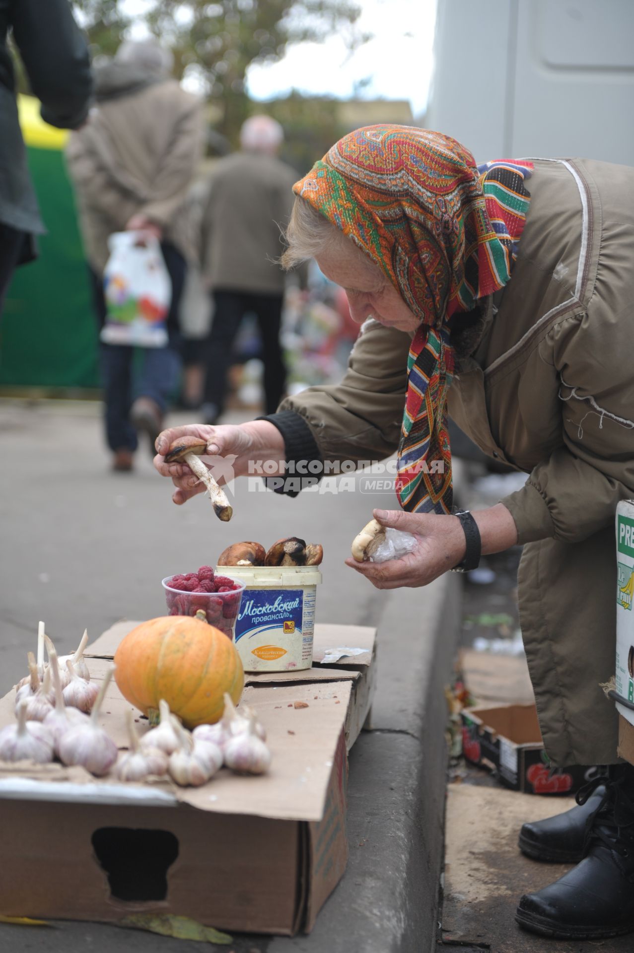
<path fill-rule="evenodd" d="M 92 847 L 113 898 L 165 900 L 167 872 L 178 857 L 178 840 L 170 831 L 100 827 L 92 835 Z"/>

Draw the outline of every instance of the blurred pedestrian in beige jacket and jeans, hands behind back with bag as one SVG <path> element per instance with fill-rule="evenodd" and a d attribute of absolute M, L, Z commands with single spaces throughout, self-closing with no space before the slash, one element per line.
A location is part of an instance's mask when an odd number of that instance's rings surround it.
<path fill-rule="evenodd" d="M 95 108 L 66 151 L 88 256 L 95 312 L 106 320 L 103 273 L 108 238 L 154 234 L 172 279 L 169 344 L 144 349 L 102 344 L 106 437 L 113 469 L 133 467 L 137 431 L 151 447 L 180 372 L 178 304 L 188 245 L 185 199 L 202 145 L 200 101 L 171 78 L 174 58 L 153 40 L 123 43 L 94 71 Z"/>

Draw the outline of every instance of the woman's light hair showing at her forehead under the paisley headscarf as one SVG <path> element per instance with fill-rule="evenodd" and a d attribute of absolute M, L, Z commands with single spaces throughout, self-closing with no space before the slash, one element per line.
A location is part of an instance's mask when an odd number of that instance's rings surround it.
<path fill-rule="evenodd" d="M 358 253 L 359 264 L 377 265 L 369 255 L 363 253 L 336 225 L 329 222 L 325 215 L 317 212 L 310 202 L 296 195 L 293 211 L 285 233 L 287 249 L 279 259 L 282 268 L 288 270 L 300 265 L 309 258 L 333 251 Z"/>

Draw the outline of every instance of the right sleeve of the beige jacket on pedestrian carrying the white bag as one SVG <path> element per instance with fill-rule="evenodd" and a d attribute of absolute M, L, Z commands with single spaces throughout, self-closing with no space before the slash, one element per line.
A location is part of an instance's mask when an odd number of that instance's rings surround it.
<path fill-rule="evenodd" d="M 152 198 L 139 209 L 159 225 L 167 225 L 183 204 L 202 154 L 202 104 L 194 96 L 174 125 L 168 152 L 160 162 L 152 183 Z"/>

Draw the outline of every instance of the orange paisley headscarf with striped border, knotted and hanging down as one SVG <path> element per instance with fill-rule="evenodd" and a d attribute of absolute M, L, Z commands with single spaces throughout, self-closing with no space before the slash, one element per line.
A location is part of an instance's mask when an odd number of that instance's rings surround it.
<path fill-rule="evenodd" d="M 505 159 L 477 167 L 440 132 L 367 126 L 339 139 L 294 186 L 378 264 L 420 318 L 399 442 L 396 490 L 405 510 L 452 512 L 450 319 L 508 281 L 532 169 Z"/>

